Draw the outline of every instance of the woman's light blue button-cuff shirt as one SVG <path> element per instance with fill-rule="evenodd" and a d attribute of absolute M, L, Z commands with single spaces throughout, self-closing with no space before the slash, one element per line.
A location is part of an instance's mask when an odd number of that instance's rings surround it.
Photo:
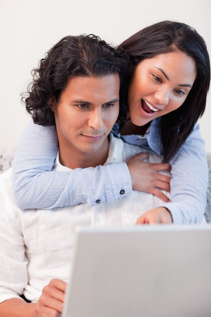
<path fill-rule="evenodd" d="M 144 137 L 124 136 L 124 140 L 162 155 L 159 119 L 152 121 Z M 53 209 L 79 203 L 95 206 L 132 193 L 131 176 L 125 163 L 75 169 L 72 173 L 55 172 L 52 169 L 57 150 L 55 128 L 34 125 L 31 121 L 13 162 L 13 191 L 19 208 Z M 201 222 L 208 169 L 198 123 L 170 164 L 172 202 L 159 206 L 170 210 L 175 224 Z"/>

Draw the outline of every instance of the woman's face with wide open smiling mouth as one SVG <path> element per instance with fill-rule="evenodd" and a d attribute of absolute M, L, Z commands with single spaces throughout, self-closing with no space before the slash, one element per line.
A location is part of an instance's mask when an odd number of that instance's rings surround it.
<path fill-rule="evenodd" d="M 144 126 L 178 109 L 196 78 L 194 60 L 182 52 L 156 55 L 140 62 L 129 86 L 131 121 Z"/>

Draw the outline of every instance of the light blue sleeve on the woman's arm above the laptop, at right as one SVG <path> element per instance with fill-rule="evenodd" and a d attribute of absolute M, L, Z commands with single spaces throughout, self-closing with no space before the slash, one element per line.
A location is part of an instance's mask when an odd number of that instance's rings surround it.
<path fill-rule="evenodd" d="M 160 206 L 170 210 L 174 224 L 200 223 L 206 207 L 208 167 L 198 123 L 170 164 L 172 202 Z"/>

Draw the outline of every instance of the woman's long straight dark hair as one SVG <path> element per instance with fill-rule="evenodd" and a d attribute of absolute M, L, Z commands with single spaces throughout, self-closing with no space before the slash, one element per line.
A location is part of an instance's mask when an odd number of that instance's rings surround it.
<path fill-rule="evenodd" d="M 131 56 L 133 70 L 146 58 L 181 51 L 192 57 L 197 75 L 192 89 L 180 108 L 160 118 L 164 162 L 177 153 L 203 114 L 210 82 L 210 62 L 203 38 L 187 24 L 162 21 L 148 26 L 121 45 Z"/>

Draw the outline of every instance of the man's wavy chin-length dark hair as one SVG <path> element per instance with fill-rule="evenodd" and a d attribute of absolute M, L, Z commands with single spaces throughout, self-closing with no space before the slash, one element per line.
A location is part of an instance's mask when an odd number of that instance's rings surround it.
<path fill-rule="evenodd" d="M 114 49 L 100 37 L 90 34 L 65 36 L 39 61 L 33 69 L 33 82 L 28 86 L 27 97 L 22 95 L 26 110 L 34 123 L 55 125 L 51 100 L 57 102 L 69 79 L 75 76 L 102 77 L 118 73 L 120 77 L 119 118 L 127 112 L 126 81 L 130 71 L 130 58 L 122 48 Z"/>

